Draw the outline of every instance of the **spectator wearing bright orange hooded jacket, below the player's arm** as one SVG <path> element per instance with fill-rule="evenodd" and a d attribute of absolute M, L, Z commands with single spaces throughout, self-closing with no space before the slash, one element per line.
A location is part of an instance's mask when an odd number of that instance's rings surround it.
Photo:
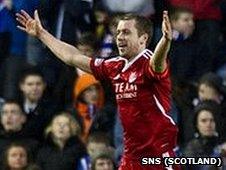
<path fill-rule="evenodd" d="M 75 109 L 82 118 L 82 139 L 87 141 L 90 127 L 97 112 L 103 107 L 103 90 L 90 74 L 81 75 L 74 87 Z"/>

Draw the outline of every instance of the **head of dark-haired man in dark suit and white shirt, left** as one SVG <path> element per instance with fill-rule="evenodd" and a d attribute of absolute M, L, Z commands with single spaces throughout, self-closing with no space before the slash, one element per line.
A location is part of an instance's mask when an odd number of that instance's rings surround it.
<path fill-rule="evenodd" d="M 43 78 L 38 75 L 29 75 L 24 82 L 20 84 L 20 89 L 25 98 L 32 103 L 36 103 L 43 96 L 45 90 L 45 83 Z"/>

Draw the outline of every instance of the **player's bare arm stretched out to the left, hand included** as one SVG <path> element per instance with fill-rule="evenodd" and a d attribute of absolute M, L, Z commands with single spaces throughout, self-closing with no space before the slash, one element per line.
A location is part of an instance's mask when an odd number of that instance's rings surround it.
<path fill-rule="evenodd" d="M 39 38 L 59 59 L 68 65 L 78 67 L 85 72 L 91 73 L 91 58 L 82 55 L 82 53 L 72 45 L 62 42 L 46 31 L 40 22 L 37 10 L 34 18 L 29 16 L 25 11 L 16 14 L 17 21 L 21 26 L 17 26 L 29 35 Z"/>

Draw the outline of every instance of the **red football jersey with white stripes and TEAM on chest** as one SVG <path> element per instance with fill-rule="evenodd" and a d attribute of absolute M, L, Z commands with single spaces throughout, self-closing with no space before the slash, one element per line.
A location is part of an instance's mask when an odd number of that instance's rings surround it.
<path fill-rule="evenodd" d="M 124 129 L 124 155 L 133 159 L 162 156 L 176 144 L 177 128 L 170 110 L 169 69 L 155 73 L 152 52 L 142 51 L 133 60 L 123 57 L 92 59 L 94 76 L 114 87 Z"/>

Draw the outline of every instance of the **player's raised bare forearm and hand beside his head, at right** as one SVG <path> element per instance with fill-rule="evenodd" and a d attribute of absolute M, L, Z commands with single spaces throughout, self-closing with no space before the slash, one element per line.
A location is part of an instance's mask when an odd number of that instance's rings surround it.
<path fill-rule="evenodd" d="M 150 67 L 157 73 L 162 73 L 167 67 L 166 58 L 172 40 L 172 29 L 167 11 L 163 11 L 162 34 L 150 61 Z"/>

